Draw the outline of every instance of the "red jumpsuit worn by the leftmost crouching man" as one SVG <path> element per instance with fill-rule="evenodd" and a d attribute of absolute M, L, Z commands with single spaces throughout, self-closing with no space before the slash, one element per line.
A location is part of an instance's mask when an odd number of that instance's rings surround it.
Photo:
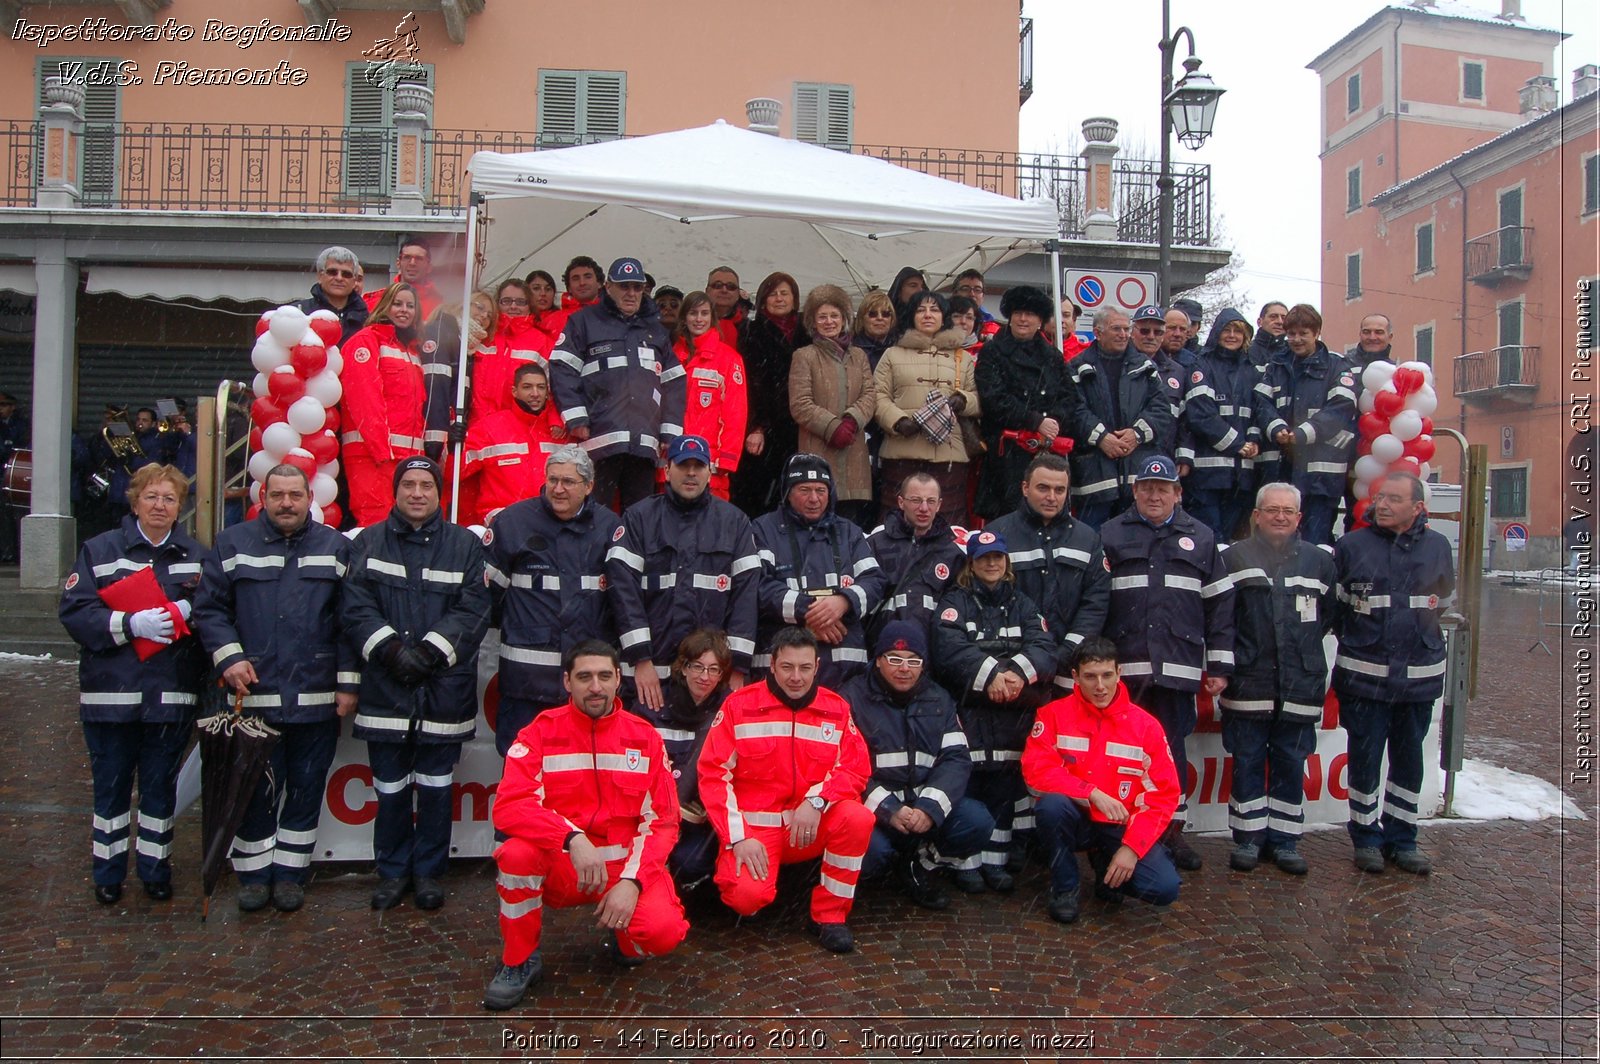
<path fill-rule="evenodd" d="M 509 835 L 499 864 L 501 960 L 520 965 L 539 949 L 544 906 L 597 906 L 579 894 L 566 840 L 584 834 L 606 858 L 605 890 L 638 883 L 638 904 L 616 933 L 629 957 L 672 952 L 690 931 L 667 872 L 678 840 L 678 790 L 661 736 L 622 709 L 594 720 L 573 704 L 547 709 L 517 733 L 494 792 L 494 827 Z"/>

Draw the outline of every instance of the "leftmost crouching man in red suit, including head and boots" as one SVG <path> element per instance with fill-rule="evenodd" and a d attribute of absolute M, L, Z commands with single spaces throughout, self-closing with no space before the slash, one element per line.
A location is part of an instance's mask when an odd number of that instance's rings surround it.
<path fill-rule="evenodd" d="M 506 752 L 494 795 L 494 827 L 509 835 L 494 851 L 506 947 L 483 1008 L 512 1008 L 544 973 L 547 904 L 594 904 L 622 966 L 669 954 L 688 934 L 667 872 L 678 840 L 672 765 L 656 730 L 624 712 L 621 682 L 616 648 L 578 643 L 562 669 L 571 701 L 534 717 Z"/>

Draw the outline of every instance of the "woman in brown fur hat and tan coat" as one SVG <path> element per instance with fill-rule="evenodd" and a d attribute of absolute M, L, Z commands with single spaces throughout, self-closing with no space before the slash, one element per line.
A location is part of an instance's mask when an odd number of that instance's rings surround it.
<path fill-rule="evenodd" d="M 850 296 L 819 285 L 805 298 L 800 320 L 811 346 L 789 368 L 789 413 L 800 427 L 800 451 L 827 461 L 835 512 L 861 525 L 872 509 L 872 467 L 862 429 L 877 408 L 867 355 L 850 342 Z"/>

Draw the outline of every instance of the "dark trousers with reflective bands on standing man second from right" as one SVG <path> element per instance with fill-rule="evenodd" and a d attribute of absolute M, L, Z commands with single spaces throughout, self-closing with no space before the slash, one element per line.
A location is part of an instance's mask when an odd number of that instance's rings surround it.
<path fill-rule="evenodd" d="M 1222 710 L 1222 746 L 1234 755 L 1227 824 L 1235 843 L 1291 848 L 1306 826 L 1306 757 L 1317 725 L 1275 710 L 1245 717 Z"/>

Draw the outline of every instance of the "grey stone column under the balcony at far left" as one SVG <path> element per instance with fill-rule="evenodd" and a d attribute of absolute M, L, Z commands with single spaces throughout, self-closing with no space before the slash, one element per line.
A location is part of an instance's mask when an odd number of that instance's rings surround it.
<path fill-rule="evenodd" d="M 34 258 L 34 494 L 22 518 L 22 587 L 61 587 L 77 555 L 72 517 L 72 413 L 78 394 L 78 264 L 64 240 Z"/>

